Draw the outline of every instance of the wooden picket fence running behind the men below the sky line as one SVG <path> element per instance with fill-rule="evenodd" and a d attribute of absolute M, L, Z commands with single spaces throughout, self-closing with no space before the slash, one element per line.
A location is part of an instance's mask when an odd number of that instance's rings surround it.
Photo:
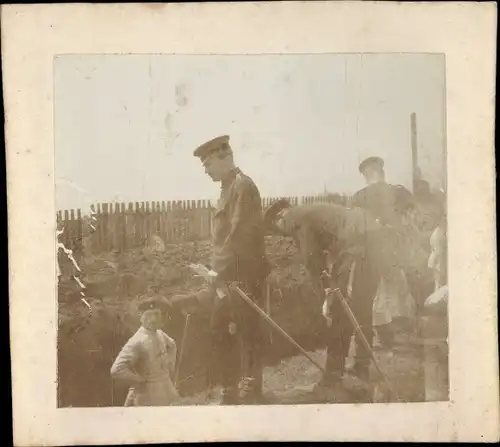
<path fill-rule="evenodd" d="M 263 208 L 277 199 L 263 198 Z M 294 205 L 347 200 L 338 195 L 287 199 Z M 166 243 L 207 239 L 212 231 L 212 213 L 208 200 L 98 203 L 85 215 L 81 209 L 59 211 L 57 227 L 62 230 L 59 241 L 67 248 L 97 254 L 143 247 L 153 235 Z"/>

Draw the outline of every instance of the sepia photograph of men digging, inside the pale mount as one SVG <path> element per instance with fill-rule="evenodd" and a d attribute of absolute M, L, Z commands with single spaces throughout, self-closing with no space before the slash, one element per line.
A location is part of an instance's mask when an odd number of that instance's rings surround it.
<path fill-rule="evenodd" d="M 445 73 L 56 55 L 58 407 L 448 401 Z"/>

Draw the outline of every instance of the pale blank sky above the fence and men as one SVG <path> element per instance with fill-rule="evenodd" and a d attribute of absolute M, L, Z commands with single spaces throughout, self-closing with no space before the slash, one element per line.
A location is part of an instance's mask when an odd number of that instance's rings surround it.
<path fill-rule="evenodd" d="M 222 134 L 263 197 L 350 194 L 370 155 L 410 187 L 412 112 L 439 184 L 444 88 L 440 55 L 60 56 L 56 205 L 216 197 L 192 152 Z"/>

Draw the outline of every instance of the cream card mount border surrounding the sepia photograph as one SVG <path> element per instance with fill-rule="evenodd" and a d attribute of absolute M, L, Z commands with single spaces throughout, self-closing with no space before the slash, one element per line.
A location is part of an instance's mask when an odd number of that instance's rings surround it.
<path fill-rule="evenodd" d="M 498 440 L 493 2 L 3 5 L 2 33 L 15 445 Z M 54 56 L 318 52 L 445 54 L 450 402 L 57 409 Z"/>

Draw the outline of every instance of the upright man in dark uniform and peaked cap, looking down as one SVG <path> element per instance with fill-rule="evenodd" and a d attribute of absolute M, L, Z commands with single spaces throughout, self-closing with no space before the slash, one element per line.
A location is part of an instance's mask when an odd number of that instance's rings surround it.
<path fill-rule="evenodd" d="M 259 190 L 236 167 L 229 136 L 206 142 L 194 151 L 194 156 L 200 159 L 211 179 L 221 184 L 213 216 L 210 268 L 217 273 L 217 284 L 213 286 L 238 282 L 262 308 L 270 266 L 265 254 Z M 246 379 L 250 388 L 247 401 L 262 402 L 265 332 L 261 317 L 239 296 L 229 292 L 222 298 L 215 294 L 212 299 L 210 385 L 222 387 L 222 404 L 237 404 L 240 403 L 238 386 L 241 379 Z M 178 303 L 182 304 L 181 298 Z"/>

